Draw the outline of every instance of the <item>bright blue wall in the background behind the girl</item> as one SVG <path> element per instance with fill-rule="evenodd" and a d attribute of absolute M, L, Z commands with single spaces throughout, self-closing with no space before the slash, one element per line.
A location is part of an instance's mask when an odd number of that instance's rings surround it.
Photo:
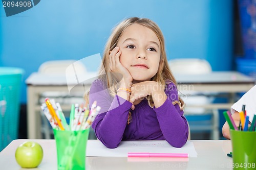
<path fill-rule="evenodd" d="M 123 18 L 146 17 L 162 29 L 168 59 L 201 58 L 214 70 L 230 70 L 232 0 L 41 1 L 6 17 L 0 7 L 0 66 L 25 69 L 28 76 L 48 60 L 102 53 L 111 29 Z"/>

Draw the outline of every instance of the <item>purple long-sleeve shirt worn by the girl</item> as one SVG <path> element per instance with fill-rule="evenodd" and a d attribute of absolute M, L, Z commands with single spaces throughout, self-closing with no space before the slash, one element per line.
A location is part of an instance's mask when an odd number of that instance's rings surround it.
<path fill-rule="evenodd" d="M 132 110 L 132 103 L 118 95 L 111 96 L 101 80 L 92 83 L 89 103 L 94 101 L 101 107 L 92 128 L 97 138 L 108 148 L 116 148 L 122 140 L 165 139 L 176 148 L 182 147 L 188 137 L 187 120 L 178 104 L 178 91 L 174 83 L 166 85 L 166 101 L 158 108 L 152 108 L 142 100 Z M 132 122 L 127 125 L 129 111 Z"/>

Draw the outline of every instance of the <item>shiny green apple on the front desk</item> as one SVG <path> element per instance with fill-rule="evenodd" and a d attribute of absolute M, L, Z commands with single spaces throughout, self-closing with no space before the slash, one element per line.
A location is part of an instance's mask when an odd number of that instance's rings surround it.
<path fill-rule="evenodd" d="M 42 147 L 34 141 L 26 141 L 18 146 L 15 152 L 17 163 L 25 168 L 37 167 L 42 161 Z"/>

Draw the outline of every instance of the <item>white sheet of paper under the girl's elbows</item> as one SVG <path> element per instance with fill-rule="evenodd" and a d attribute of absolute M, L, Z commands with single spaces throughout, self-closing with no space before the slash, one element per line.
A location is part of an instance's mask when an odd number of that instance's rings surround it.
<path fill-rule="evenodd" d="M 88 140 L 87 156 L 127 157 L 128 152 L 187 153 L 197 157 L 194 143 L 187 141 L 182 148 L 174 148 L 165 140 L 122 141 L 115 149 L 106 148 L 99 140 Z"/>

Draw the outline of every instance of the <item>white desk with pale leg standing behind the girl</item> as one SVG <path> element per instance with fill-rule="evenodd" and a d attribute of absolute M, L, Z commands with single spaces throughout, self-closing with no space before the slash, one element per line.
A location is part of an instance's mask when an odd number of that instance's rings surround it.
<path fill-rule="evenodd" d="M 90 78 L 96 77 L 97 73 L 84 75 Z M 236 92 L 246 92 L 254 85 L 254 80 L 248 76 L 242 75 L 239 72 L 224 71 L 212 72 L 205 75 L 175 75 L 179 90 L 200 91 L 200 92 L 226 92 L 234 94 Z M 87 80 L 84 78 L 84 80 Z M 89 79 L 85 82 L 85 87 L 88 88 L 94 79 Z M 45 91 L 64 91 L 69 92 L 65 75 L 43 75 L 33 73 L 26 80 L 27 83 L 27 120 L 28 120 L 28 138 L 41 139 L 41 117 L 38 113 L 40 105 L 38 104 L 39 94 Z M 76 82 L 74 82 L 76 84 Z M 83 87 L 75 89 L 81 91 L 81 96 L 84 92 Z M 233 101 L 228 104 L 211 104 L 211 105 L 196 105 L 189 107 L 204 107 L 229 109 Z M 70 107 L 70 106 L 67 106 Z M 63 106 L 63 109 L 67 109 Z"/>

